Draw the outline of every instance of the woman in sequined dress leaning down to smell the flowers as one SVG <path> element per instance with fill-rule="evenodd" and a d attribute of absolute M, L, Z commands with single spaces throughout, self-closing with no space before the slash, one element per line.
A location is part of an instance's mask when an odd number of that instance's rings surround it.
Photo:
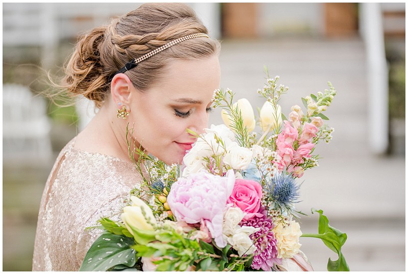
<path fill-rule="evenodd" d="M 132 141 L 166 163 L 180 162 L 207 127 L 219 88 L 219 42 L 183 4 L 145 4 L 82 37 L 62 87 L 99 108 L 59 154 L 41 199 L 33 270 L 78 270 L 99 236 L 87 227 L 118 220 L 141 177 Z"/>

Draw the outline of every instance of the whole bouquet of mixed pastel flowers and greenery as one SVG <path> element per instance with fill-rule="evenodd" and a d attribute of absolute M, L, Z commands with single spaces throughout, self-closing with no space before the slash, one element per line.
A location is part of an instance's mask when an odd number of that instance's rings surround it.
<path fill-rule="evenodd" d="M 104 233 L 80 270 L 313 270 L 301 236 L 321 238 L 338 254 L 328 270 L 348 270 L 341 253 L 347 235 L 314 209 L 319 233 L 302 235 L 296 221 L 303 213 L 295 208 L 298 178 L 318 166 L 315 146 L 331 139 L 322 112 L 336 91 L 328 83 L 329 90 L 302 98 L 304 112 L 293 105 L 287 118 L 278 100 L 288 88 L 277 82 L 268 77 L 258 90 L 266 99 L 258 119 L 246 99 L 234 103 L 231 90 L 215 91 L 225 125 L 189 131 L 197 141 L 182 166 L 130 149 L 139 155 L 131 157 L 142 187 L 132 190 L 120 222 L 100 220 Z M 257 124 L 262 134 L 253 132 Z"/>

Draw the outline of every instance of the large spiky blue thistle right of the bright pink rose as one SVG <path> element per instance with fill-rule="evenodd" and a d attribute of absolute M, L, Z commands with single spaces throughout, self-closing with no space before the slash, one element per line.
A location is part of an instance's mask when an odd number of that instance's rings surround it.
<path fill-rule="evenodd" d="M 293 203 L 299 198 L 300 186 L 296 184 L 291 174 L 286 172 L 276 173 L 272 180 L 266 182 L 265 190 L 268 200 L 275 209 L 292 211 Z"/>

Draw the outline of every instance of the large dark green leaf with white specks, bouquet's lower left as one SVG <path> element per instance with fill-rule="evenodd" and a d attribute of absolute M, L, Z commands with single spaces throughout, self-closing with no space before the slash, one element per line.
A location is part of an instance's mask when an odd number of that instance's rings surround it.
<path fill-rule="evenodd" d="M 82 262 L 80 271 L 106 271 L 116 265 L 133 267 L 135 251 L 131 248 L 134 239 L 105 232 L 91 245 Z"/>

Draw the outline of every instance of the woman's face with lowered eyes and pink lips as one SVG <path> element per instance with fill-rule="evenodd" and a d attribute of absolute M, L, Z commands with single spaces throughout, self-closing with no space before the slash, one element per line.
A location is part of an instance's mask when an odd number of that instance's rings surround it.
<path fill-rule="evenodd" d="M 196 138 L 208 126 L 212 97 L 220 84 L 218 57 L 172 60 L 156 85 L 131 92 L 133 137 L 149 153 L 167 164 L 182 163 Z"/>

